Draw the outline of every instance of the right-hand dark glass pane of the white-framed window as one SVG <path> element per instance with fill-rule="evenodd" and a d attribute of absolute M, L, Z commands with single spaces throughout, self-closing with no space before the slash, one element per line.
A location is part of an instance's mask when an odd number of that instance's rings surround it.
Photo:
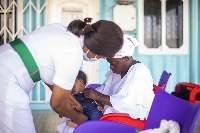
<path fill-rule="evenodd" d="M 183 1 L 166 1 L 166 44 L 179 48 L 183 44 Z"/>

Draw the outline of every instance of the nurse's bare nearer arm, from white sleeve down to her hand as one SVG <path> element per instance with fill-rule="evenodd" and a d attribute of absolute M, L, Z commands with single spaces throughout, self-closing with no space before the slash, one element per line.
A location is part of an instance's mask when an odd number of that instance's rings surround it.
<path fill-rule="evenodd" d="M 65 90 L 57 85 L 54 85 L 50 100 L 52 109 L 60 116 L 72 119 L 72 121 L 76 124 L 80 124 L 83 121 L 88 120 L 87 116 L 72 108 L 70 105 L 70 95 L 71 90 Z"/>

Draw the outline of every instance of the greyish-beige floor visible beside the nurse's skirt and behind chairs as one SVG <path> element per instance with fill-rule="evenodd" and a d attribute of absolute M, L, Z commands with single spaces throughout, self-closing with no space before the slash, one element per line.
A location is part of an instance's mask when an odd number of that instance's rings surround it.
<path fill-rule="evenodd" d="M 63 119 L 59 118 L 54 111 L 42 110 L 32 111 L 32 113 L 37 133 L 58 133 L 56 126 L 60 124 Z M 193 133 L 200 133 L 200 116 Z"/>

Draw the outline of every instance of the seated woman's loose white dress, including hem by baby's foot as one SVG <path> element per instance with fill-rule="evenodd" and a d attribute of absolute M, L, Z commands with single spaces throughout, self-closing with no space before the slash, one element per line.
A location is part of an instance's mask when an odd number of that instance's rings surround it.
<path fill-rule="evenodd" d="M 151 73 L 143 63 L 131 66 L 122 79 L 119 74 L 108 71 L 106 81 L 96 90 L 110 96 L 113 107 L 105 105 L 104 114 L 128 113 L 132 118 L 141 120 L 148 117 L 155 96 Z M 57 126 L 60 133 L 72 133 L 74 130 L 66 126 L 66 120 Z"/>

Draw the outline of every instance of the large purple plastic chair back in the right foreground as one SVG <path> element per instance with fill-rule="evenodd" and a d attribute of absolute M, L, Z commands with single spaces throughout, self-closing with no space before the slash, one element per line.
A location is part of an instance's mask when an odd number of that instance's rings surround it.
<path fill-rule="evenodd" d="M 163 90 L 156 92 L 145 129 L 159 128 L 162 119 L 179 123 L 181 133 L 192 133 L 200 114 L 200 103 L 182 100 Z"/>

